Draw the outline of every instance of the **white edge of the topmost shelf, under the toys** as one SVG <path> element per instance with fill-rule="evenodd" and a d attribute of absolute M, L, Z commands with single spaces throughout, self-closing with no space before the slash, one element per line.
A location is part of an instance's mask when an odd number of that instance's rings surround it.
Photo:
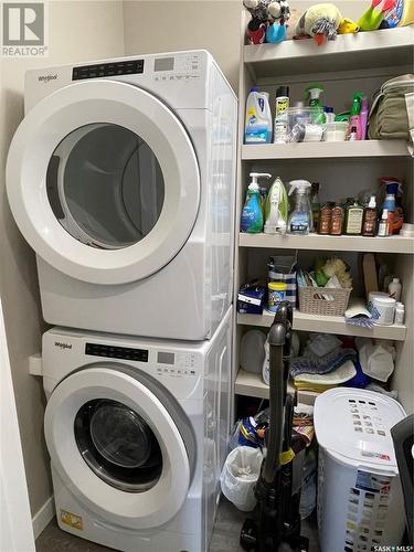
<path fill-rule="evenodd" d="M 244 62 L 259 64 L 264 62 L 284 61 L 327 55 L 348 54 L 353 56 L 360 52 L 378 52 L 382 50 L 394 50 L 411 47 L 414 42 L 413 25 L 397 29 L 385 29 L 358 34 L 343 34 L 335 41 L 328 41 L 322 46 L 314 40 L 288 40 L 279 44 L 259 44 L 244 46 Z M 322 63 L 322 61 L 321 61 Z"/>

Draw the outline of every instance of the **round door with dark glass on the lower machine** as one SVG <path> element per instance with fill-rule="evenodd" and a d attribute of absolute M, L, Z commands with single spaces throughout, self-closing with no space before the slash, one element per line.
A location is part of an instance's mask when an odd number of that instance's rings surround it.
<path fill-rule="evenodd" d="M 178 402 L 149 375 L 120 364 L 73 372 L 47 402 L 44 432 L 63 482 L 104 520 L 153 528 L 182 507 L 194 434 Z"/>

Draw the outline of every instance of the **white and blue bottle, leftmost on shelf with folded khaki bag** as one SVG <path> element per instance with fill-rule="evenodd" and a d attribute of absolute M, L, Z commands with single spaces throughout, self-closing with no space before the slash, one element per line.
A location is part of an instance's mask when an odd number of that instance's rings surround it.
<path fill-rule="evenodd" d="M 272 141 L 272 113 L 267 92 L 252 88 L 246 102 L 245 144 Z"/>

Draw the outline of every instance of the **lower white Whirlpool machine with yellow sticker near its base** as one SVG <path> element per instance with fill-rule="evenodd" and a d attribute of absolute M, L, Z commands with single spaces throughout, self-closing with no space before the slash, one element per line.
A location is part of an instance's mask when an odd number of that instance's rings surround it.
<path fill-rule="evenodd" d="M 231 311 L 182 343 L 54 328 L 44 432 L 57 521 L 128 552 L 205 552 L 230 429 Z"/>

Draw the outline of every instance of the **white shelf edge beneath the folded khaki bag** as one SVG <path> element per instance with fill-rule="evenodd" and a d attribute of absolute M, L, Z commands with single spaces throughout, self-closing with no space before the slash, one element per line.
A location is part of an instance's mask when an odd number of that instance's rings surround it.
<path fill-rule="evenodd" d="M 244 144 L 242 146 L 243 161 L 406 156 L 408 156 L 408 149 L 404 140 Z"/>

